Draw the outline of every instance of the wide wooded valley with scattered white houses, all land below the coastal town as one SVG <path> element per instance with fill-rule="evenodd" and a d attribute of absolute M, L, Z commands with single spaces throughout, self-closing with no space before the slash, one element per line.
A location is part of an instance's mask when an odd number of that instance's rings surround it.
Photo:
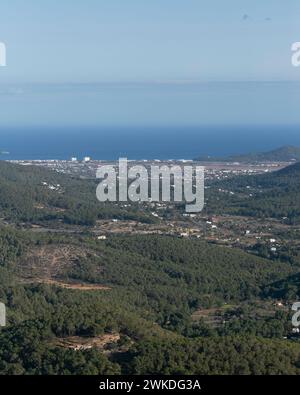
<path fill-rule="evenodd" d="M 298 374 L 298 165 L 226 166 L 211 163 L 204 211 L 187 214 L 99 203 L 86 164 L 78 174 L 0 163 L 2 371 L 153 374 L 164 350 L 166 374 Z M 248 344 L 273 355 L 268 368 Z M 244 362 L 225 363 L 237 349 Z"/>

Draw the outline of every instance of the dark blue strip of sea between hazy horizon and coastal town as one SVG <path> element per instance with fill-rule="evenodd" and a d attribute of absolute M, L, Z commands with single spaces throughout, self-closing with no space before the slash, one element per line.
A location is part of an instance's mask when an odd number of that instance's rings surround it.
<path fill-rule="evenodd" d="M 1 159 L 192 159 L 300 146 L 299 126 L 36 128 L 0 131 Z"/>

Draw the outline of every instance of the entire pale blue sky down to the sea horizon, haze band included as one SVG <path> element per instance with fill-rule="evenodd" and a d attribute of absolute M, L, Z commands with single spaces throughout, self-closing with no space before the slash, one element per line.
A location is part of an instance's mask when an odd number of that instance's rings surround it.
<path fill-rule="evenodd" d="M 299 22 L 299 0 L 1 0 L 0 132 L 300 124 Z"/>

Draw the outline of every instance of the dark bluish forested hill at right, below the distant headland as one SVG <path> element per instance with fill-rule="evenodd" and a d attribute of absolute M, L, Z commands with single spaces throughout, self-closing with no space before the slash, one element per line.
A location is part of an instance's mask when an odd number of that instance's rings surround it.
<path fill-rule="evenodd" d="M 219 189 L 234 192 L 220 196 Z M 217 182 L 208 194 L 209 210 L 300 222 L 300 162 L 273 173 Z"/>

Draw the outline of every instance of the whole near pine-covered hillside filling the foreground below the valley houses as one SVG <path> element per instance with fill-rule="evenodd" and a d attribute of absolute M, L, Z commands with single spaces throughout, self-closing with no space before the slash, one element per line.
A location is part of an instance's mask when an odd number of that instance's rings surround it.
<path fill-rule="evenodd" d="M 99 244 L 89 236 L 62 238 L 6 228 L 0 232 L 0 244 L 0 298 L 9 323 L 0 332 L 3 374 L 299 372 L 299 347 L 289 353 L 290 343 L 278 340 L 286 333 L 288 317 L 253 322 L 243 314 L 235 322 L 234 314 L 232 330 L 191 320 L 197 309 L 229 303 L 239 309 L 243 301 L 260 298 L 268 284 L 295 272 L 288 264 L 197 240 L 158 236 L 112 237 Z M 62 249 L 72 256 L 65 256 L 60 271 L 47 271 L 50 276 L 107 288 L 69 290 L 40 282 L 42 274 L 46 280 L 44 265 L 48 267 L 55 250 L 61 254 Z M 24 283 L 30 265 L 34 277 Z M 242 327 L 240 337 L 235 335 L 237 324 Z M 263 333 L 268 339 L 261 338 Z M 80 341 L 109 334 L 119 341 L 109 344 L 105 353 L 67 346 L 74 337 Z M 62 339 L 65 346 L 59 346 Z M 257 363 L 257 352 L 268 363 Z M 241 365 L 242 360 L 247 362 Z"/>

